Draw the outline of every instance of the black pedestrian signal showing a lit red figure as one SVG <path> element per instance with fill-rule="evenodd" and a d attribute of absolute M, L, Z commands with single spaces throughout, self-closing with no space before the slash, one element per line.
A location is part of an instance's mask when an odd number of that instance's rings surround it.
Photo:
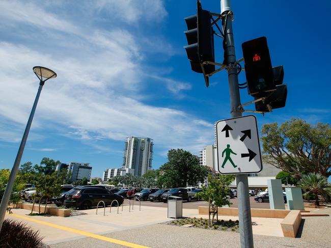
<path fill-rule="evenodd" d="M 276 90 L 267 44 L 267 38 L 260 37 L 242 43 L 245 60 L 247 88 L 250 95 L 264 97 Z"/>

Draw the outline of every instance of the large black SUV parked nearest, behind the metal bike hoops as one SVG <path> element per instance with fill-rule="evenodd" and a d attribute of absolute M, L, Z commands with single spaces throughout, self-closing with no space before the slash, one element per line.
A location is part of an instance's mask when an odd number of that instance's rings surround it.
<path fill-rule="evenodd" d="M 100 187 L 76 187 L 71 189 L 66 195 L 64 206 L 89 209 L 91 207 L 97 206 L 99 201 L 103 201 L 107 206 L 111 205 L 113 200 L 117 200 L 119 205 L 121 205 L 124 201 L 124 198 Z M 114 202 L 113 206 L 116 205 L 117 203 Z"/>

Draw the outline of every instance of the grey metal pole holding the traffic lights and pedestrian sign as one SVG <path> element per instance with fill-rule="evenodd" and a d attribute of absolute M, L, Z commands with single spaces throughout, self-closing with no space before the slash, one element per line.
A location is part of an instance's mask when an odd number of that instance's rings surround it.
<path fill-rule="evenodd" d="M 230 0 L 220 0 L 220 14 L 222 15 L 222 24 L 225 26 L 225 54 L 228 62 L 228 78 L 230 90 L 230 104 L 231 116 L 240 117 L 241 112 L 238 109 L 240 105 L 240 94 L 238 88 L 238 74 L 235 66 L 236 54 L 234 49 L 232 17 Z M 251 204 L 249 196 L 248 178 L 246 174 L 237 174 L 237 196 L 238 196 L 238 215 L 239 215 L 239 233 L 240 233 L 240 247 L 251 248 L 254 247 L 253 231 L 252 231 L 252 217 Z"/>

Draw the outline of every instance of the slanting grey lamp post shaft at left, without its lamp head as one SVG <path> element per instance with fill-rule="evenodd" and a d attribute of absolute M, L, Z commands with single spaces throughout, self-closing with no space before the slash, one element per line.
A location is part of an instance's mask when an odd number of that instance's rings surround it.
<path fill-rule="evenodd" d="M 13 169 L 10 172 L 9 181 L 7 183 L 7 186 L 6 186 L 6 190 L 5 190 L 3 199 L 1 200 L 1 204 L 0 204 L 0 231 L 1 231 L 1 228 L 2 228 L 2 225 L 3 225 L 3 222 L 4 222 L 4 218 L 5 218 L 9 198 L 10 198 L 11 192 L 13 190 L 14 181 L 15 181 L 16 174 L 17 174 L 17 171 L 18 171 L 18 168 L 19 168 L 19 164 L 21 162 L 21 158 L 22 158 L 22 155 L 23 155 L 25 143 L 26 143 L 26 140 L 27 140 L 27 135 L 29 135 L 32 119 L 33 119 L 33 116 L 35 115 L 35 112 L 36 112 L 37 103 L 38 103 L 40 92 L 41 92 L 41 89 L 43 88 L 43 85 L 44 85 L 44 82 L 40 81 L 37 96 L 36 96 L 35 102 L 33 104 L 29 120 L 27 121 L 27 124 L 26 124 L 26 127 L 25 127 L 25 131 L 24 131 L 22 141 L 21 141 L 21 144 L 19 146 L 19 149 L 18 149 L 18 152 L 17 152 L 17 155 L 16 155 L 16 159 L 15 159 L 15 162 L 14 162 Z"/>

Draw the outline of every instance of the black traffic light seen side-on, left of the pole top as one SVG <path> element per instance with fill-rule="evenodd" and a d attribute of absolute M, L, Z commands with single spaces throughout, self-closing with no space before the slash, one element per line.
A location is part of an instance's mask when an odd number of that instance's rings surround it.
<path fill-rule="evenodd" d="M 187 25 L 185 31 L 187 46 L 184 46 L 187 58 L 190 61 L 192 71 L 203 73 L 206 86 L 209 85 L 208 74 L 215 70 L 211 64 L 203 62 L 215 62 L 214 57 L 214 37 L 210 22 L 209 11 L 203 10 L 201 3 L 197 1 L 197 14 L 184 18 Z"/>

